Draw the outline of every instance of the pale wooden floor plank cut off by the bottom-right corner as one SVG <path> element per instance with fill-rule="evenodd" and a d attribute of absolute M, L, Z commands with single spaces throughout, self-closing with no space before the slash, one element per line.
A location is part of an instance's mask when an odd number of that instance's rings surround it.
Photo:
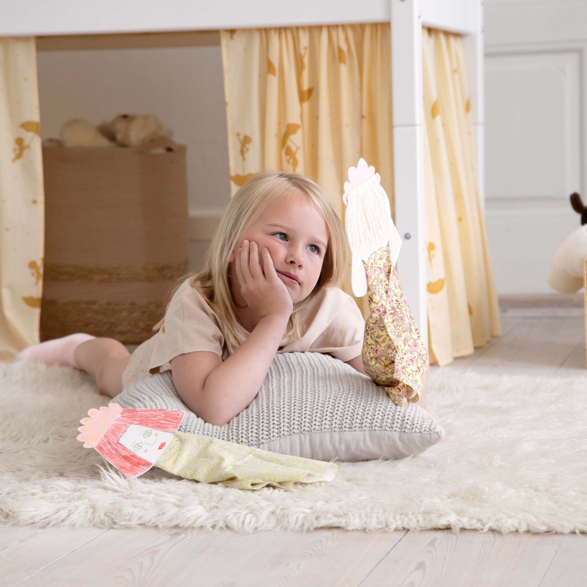
<path fill-rule="evenodd" d="M 565 535 L 540 587 L 587 587 L 587 535 Z"/>

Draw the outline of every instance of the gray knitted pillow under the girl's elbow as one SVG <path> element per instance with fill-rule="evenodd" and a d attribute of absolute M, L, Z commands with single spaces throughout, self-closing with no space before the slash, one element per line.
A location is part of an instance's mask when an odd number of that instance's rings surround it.
<path fill-rule="evenodd" d="M 445 435 L 426 410 L 396 406 L 369 377 L 322 353 L 275 355 L 257 396 L 224 426 L 187 409 L 171 371 L 134 383 L 112 402 L 183 410 L 180 431 L 321 461 L 403 458 Z"/>

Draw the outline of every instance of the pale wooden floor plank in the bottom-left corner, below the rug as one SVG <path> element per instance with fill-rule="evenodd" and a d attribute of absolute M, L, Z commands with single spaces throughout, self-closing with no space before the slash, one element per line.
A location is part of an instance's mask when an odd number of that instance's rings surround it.
<path fill-rule="evenodd" d="M 0 586 L 12 587 L 37 575 L 106 531 L 104 528 L 0 526 Z"/>

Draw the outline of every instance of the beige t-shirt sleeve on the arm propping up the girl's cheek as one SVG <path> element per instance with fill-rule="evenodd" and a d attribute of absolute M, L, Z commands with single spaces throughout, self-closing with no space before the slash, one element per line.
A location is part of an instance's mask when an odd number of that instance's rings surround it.
<path fill-rule="evenodd" d="M 214 311 L 197 289 L 182 286 L 171 299 L 157 333 L 149 367 L 151 370 L 197 350 L 222 356 L 223 348 L 224 336 Z"/>

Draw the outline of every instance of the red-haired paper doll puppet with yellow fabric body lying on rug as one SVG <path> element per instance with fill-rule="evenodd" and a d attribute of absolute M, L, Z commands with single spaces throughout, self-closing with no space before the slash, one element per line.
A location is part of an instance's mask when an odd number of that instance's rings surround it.
<path fill-rule="evenodd" d="M 116 403 L 87 412 L 77 440 L 95 448 L 127 477 L 157 467 L 203 483 L 239 489 L 332 481 L 337 465 L 272 453 L 200 434 L 178 432 L 184 412 L 123 409 Z"/>

